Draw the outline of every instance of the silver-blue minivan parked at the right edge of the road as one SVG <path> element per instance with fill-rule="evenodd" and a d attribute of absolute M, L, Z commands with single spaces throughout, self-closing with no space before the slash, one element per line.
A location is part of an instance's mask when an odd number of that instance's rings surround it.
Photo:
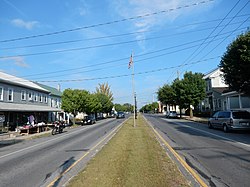
<path fill-rule="evenodd" d="M 208 120 L 209 128 L 250 130 L 250 113 L 242 110 L 218 111 Z"/>

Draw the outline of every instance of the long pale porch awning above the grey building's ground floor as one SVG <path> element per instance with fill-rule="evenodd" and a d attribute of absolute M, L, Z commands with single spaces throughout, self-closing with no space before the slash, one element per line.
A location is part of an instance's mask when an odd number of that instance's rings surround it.
<path fill-rule="evenodd" d="M 49 106 L 16 104 L 0 102 L 0 111 L 16 111 L 16 112 L 61 112 L 62 109 Z"/>

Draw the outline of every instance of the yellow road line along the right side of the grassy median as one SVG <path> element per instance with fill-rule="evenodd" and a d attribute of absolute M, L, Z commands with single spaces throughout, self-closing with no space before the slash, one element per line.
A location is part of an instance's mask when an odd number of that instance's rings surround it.
<path fill-rule="evenodd" d="M 144 119 L 148 122 L 148 120 L 144 117 Z M 148 122 L 149 123 L 149 122 Z M 167 146 L 167 148 L 171 151 L 171 153 L 175 156 L 175 158 L 182 164 L 182 166 L 191 173 L 193 178 L 202 186 L 208 187 L 207 184 L 200 178 L 200 176 L 181 158 L 181 156 L 166 142 L 166 140 L 150 125 L 153 129 L 154 133 L 161 139 L 161 141 Z"/>

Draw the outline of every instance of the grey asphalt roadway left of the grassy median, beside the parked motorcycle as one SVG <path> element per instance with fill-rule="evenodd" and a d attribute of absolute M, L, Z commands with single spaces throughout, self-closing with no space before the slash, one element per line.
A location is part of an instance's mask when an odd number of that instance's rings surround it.
<path fill-rule="evenodd" d="M 60 175 L 87 155 L 86 153 L 92 151 L 93 153 L 89 155 L 94 155 L 102 145 L 98 144 L 99 147 L 92 150 L 93 146 L 102 141 L 124 120 L 114 118 L 101 120 L 94 125 L 65 129 L 64 133 L 55 136 L 24 140 L 1 147 L 0 186 L 47 186 L 58 176 L 61 179 Z M 105 141 L 102 143 L 104 144 Z M 85 162 L 82 166 L 86 165 L 89 159 L 82 159 L 81 162 Z M 78 166 L 78 171 L 82 166 Z M 73 177 L 73 173 L 67 177 L 68 179 Z M 62 181 L 60 184 L 58 182 L 54 184 L 54 186 L 62 185 Z"/>

